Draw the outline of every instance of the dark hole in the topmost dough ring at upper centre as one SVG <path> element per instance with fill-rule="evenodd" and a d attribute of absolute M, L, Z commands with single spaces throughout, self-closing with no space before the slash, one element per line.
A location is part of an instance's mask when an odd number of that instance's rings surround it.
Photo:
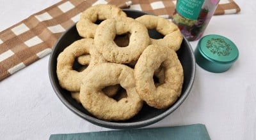
<path fill-rule="evenodd" d="M 125 47 L 129 45 L 130 36 L 131 34 L 129 32 L 120 35 L 116 34 L 114 41 L 117 46 Z"/>

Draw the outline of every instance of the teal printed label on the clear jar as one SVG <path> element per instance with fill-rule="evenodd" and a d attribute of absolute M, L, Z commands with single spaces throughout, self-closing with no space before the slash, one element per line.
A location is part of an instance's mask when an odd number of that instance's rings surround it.
<path fill-rule="evenodd" d="M 178 0 L 176 10 L 183 17 L 197 20 L 204 0 Z"/>

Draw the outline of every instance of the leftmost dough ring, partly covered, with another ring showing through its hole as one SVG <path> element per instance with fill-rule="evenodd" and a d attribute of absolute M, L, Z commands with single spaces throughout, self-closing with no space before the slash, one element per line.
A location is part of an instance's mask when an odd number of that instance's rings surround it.
<path fill-rule="evenodd" d="M 81 72 L 74 70 L 73 64 L 76 57 L 85 54 L 92 55 L 88 67 Z M 58 55 L 56 73 L 60 86 L 70 92 L 78 92 L 84 75 L 103 62 L 106 60 L 94 49 L 93 39 L 85 38 L 75 41 Z"/>

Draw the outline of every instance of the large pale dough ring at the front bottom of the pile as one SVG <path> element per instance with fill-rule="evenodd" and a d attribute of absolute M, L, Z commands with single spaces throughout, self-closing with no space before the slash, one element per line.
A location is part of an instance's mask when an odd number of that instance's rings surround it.
<path fill-rule="evenodd" d="M 127 92 L 127 97 L 119 101 L 102 92 L 103 87 L 116 84 L 120 84 Z M 135 89 L 133 69 L 113 63 L 100 64 L 84 77 L 80 101 L 92 115 L 109 121 L 132 118 L 143 106 L 143 101 Z"/>

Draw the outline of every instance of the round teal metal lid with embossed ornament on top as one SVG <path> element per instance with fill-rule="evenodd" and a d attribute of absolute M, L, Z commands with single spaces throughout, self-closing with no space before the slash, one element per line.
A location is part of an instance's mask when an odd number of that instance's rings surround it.
<path fill-rule="evenodd" d="M 211 34 L 204 36 L 195 49 L 198 66 L 213 73 L 223 73 L 236 62 L 239 51 L 230 39 Z"/>

